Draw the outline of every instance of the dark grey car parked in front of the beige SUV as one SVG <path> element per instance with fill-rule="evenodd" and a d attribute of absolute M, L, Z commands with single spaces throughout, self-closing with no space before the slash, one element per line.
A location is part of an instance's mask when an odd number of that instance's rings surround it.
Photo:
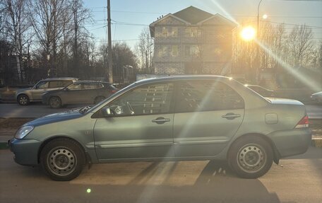
<path fill-rule="evenodd" d="M 68 104 L 96 104 L 116 92 L 117 88 L 107 82 L 77 81 L 61 90 L 44 93 L 42 103 L 51 108 Z"/>

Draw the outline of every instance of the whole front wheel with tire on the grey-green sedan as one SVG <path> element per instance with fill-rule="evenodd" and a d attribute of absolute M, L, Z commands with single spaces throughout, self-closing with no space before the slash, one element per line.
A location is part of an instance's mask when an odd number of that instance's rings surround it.
<path fill-rule="evenodd" d="M 69 181 L 81 174 L 85 166 L 85 153 L 76 141 L 54 139 L 42 149 L 40 164 L 52 180 Z"/>

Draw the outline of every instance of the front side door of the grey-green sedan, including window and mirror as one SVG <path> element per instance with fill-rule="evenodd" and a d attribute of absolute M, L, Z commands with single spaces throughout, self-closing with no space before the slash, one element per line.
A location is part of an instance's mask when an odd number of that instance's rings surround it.
<path fill-rule="evenodd" d="M 143 85 L 102 108 L 113 114 L 97 118 L 94 127 L 97 158 L 104 162 L 174 157 L 173 91 L 173 83 Z"/>

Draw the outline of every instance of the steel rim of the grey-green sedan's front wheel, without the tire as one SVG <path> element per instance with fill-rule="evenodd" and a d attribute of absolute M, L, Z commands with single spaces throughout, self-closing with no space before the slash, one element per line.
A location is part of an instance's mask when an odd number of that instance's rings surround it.
<path fill-rule="evenodd" d="M 65 176 L 73 173 L 77 158 L 73 151 L 65 148 L 52 149 L 47 156 L 47 166 L 52 173 Z"/>

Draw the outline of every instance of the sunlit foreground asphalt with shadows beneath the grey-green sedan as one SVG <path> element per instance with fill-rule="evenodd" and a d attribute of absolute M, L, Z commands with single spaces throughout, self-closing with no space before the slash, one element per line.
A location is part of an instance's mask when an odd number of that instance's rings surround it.
<path fill-rule="evenodd" d="M 322 149 L 275 163 L 262 178 L 237 178 L 214 161 L 106 163 L 70 182 L 19 166 L 0 150 L 1 202 L 321 202 Z"/>

